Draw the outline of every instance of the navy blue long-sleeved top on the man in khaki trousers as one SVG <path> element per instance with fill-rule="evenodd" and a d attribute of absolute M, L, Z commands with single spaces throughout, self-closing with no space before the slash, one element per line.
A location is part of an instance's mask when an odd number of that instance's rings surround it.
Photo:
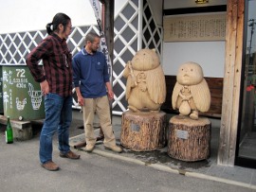
<path fill-rule="evenodd" d="M 105 83 L 109 81 L 105 56 L 100 51 L 90 55 L 84 48 L 72 60 L 73 82 L 85 98 L 106 96 Z M 81 82 L 81 83 L 80 83 Z"/>

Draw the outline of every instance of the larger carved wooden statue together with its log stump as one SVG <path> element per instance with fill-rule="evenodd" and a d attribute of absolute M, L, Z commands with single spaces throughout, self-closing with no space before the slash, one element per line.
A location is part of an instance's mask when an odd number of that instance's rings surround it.
<path fill-rule="evenodd" d="M 160 112 L 165 101 L 163 70 L 154 49 L 137 51 L 128 61 L 126 99 L 129 111 L 122 113 L 120 143 L 135 151 L 163 148 L 166 144 L 166 113 Z"/>

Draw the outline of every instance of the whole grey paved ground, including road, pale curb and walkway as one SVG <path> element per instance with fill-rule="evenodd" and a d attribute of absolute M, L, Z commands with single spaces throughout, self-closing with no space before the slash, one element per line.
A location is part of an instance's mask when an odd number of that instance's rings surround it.
<path fill-rule="evenodd" d="M 70 128 L 71 146 L 84 139 L 83 130 L 79 129 L 82 126 L 79 115 L 74 115 Z M 120 124 L 120 116 L 114 116 L 113 128 L 118 144 Z M 149 152 L 134 152 L 124 148 L 123 153 L 117 154 L 105 150 L 101 142 L 98 142 L 92 153 L 73 148 L 82 158 L 68 160 L 59 157 L 55 137 L 53 161 L 61 170 L 51 172 L 39 164 L 40 125 L 33 128 L 31 140 L 15 141 L 13 144 L 5 144 L 4 129 L 1 125 L 0 191 L 3 192 L 256 190 L 255 170 L 217 166 L 214 145 L 210 159 L 197 163 L 176 161 L 167 155 L 166 148 Z"/>

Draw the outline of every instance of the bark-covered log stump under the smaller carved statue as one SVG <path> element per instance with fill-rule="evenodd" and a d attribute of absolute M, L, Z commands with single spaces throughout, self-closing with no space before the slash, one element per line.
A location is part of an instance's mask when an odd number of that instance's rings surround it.
<path fill-rule="evenodd" d="M 194 162 L 210 157 L 211 123 L 206 117 L 192 120 L 175 115 L 169 121 L 167 153 L 174 159 Z"/>

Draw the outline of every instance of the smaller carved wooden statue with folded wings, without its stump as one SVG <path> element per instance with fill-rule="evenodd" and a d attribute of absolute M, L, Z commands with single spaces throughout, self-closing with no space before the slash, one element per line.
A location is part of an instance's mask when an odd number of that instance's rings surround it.
<path fill-rule="evenodd" d="M 172 96 L 174 110 L 198 119 L 198 111 L 207 112 L 210 109 L 210 90 L 201 66 L 192 61 L 182 64 L 176 79 Z"/>

